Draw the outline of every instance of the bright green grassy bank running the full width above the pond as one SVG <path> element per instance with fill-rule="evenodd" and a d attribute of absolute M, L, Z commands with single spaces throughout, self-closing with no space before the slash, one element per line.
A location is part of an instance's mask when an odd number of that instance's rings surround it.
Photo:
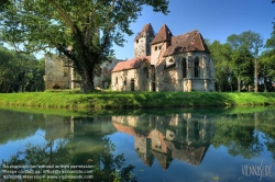
<path fill-rule="evenodd" d="M 0 105 L 57 109 L 144 109 L 275 105 L 275 93 L 95 92 L 1 93 Z"/>

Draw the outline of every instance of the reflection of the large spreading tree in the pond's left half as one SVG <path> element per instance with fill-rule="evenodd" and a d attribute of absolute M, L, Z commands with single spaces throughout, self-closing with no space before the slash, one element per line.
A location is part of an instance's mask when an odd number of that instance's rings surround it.
<path fill-rule="evenodd" d="M 77 122 L 78 121 L 78 122 Z M 94 168 L 94 179 L 90 181 L 136 181 L 133 177 L 133 166 L 124 166 L 124 155 L 113 156 L 111 152 L 116 146 L 108 137 L 101 133 L 96 133 L 97 125 L 86 125 L 92 120 L 76 120 L 74 137 L 62 139 L 53 146 L 53 140 L 44 146 L 33 146 L 29 144 L 25 151 L 19 151 L 6 164 L 91 164 Z M 91 128 L 94 126 L 94 128 Z M 51 136 L 51 135 L 48 135 Z M 53 135 L 56 136 L 56 135 Z M 92 139 L 91 139 L 92 138 Z M 90 145 L 82 140 L 98 140 Z M 0 163 L 0 166 L 2 164 Z"/>

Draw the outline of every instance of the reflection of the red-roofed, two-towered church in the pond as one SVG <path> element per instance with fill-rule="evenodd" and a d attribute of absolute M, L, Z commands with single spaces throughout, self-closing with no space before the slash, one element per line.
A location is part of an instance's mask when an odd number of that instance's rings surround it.
<path fill-rule="evenodd" d="M 169 116 L 112 116 L 119 132 L 134 136 L 134 149 L 146 166 L 154 158 L 163 169 L 173 159 L 198 166 L 210 146 L 212 117 L 190 113 Z"/>

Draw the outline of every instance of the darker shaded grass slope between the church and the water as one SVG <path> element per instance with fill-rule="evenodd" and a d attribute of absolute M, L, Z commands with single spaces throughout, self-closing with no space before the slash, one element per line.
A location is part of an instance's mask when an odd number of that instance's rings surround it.
<path fill-rule="evenodd" d="M 233 106 L 228 93 L 218 92 L 119 92 L 87 94 L 74 105 L 95 110 Z"/>

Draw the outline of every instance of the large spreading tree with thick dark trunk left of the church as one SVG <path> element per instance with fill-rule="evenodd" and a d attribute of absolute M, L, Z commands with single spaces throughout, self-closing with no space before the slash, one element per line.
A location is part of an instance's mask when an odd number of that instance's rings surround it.
<path fill-rule="evenodd" d="M 168 0 L 6 0 L 1 11 L 2 39 L 33 53 L 57 49 L 74 62 L 82 90 L 94 90 L 97 67 L 131 35 L 130 24 L 144 5 L 168 13 Z"/>

